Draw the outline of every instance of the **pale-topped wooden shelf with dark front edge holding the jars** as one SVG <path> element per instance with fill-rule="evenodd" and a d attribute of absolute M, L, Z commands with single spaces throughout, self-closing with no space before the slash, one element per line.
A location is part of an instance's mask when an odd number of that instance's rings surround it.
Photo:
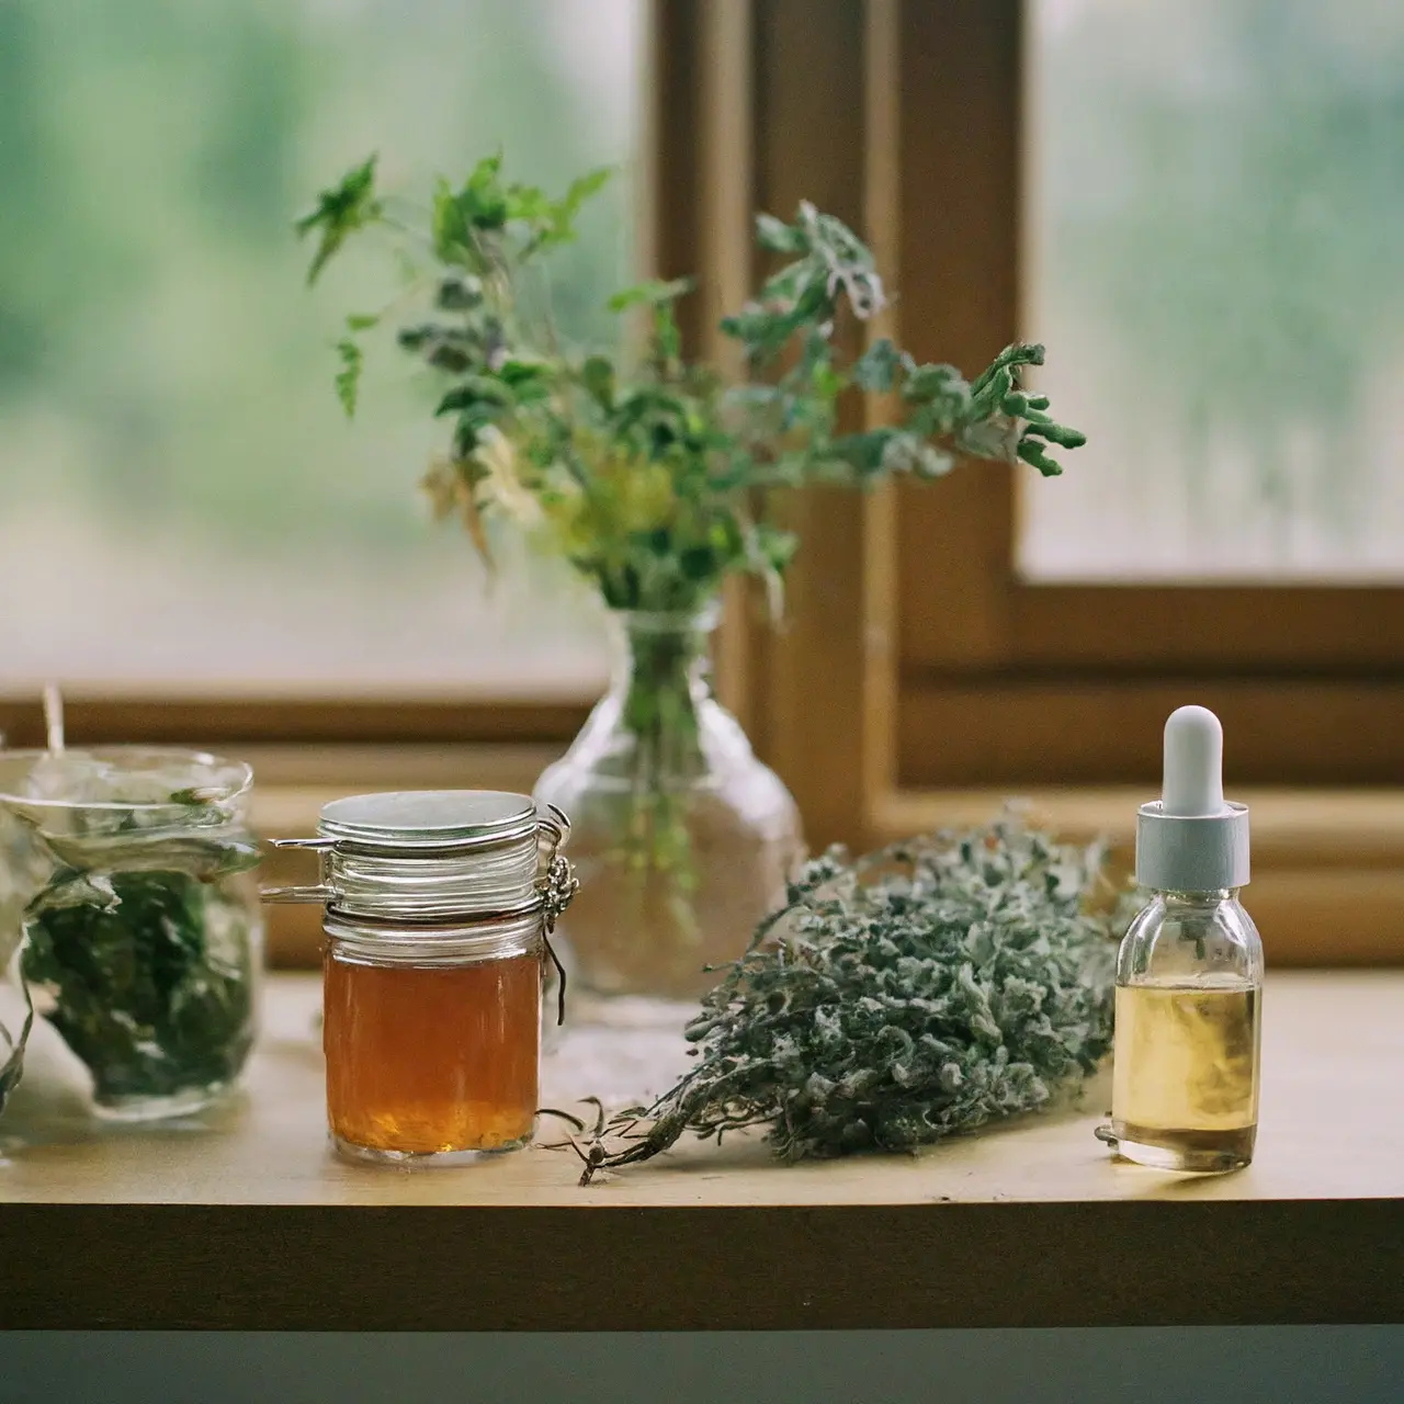
<path fill-rule="evenodd" d="M 316 980 L 270 981 L 247 1091 L 94 1129 L 45 1031 L 0 1123 L 0 1323 L 703 1330 L 1404 1320 L 1404 974 L 1282 973 L 1255 1164 L 1113 1163 L 1087 1109 L 918 1157 L 795 1167 L 754 1137 L 581 1189 L 569 1151 L 378 1171 L 326 1148 Z M 413 1031 L 407 1031 L 413 1036 Z M 657 1047 L 657 1035 L 650 1035 Z M 548 1053 L 591 1088 L 611 1040 Z M 665 1039 L 671 1057 L 673 1045 Z M 592 1050 L 592 1052 L 591 1052 Z M 667 1068 L 653 1066 L 661 1085 Z M 646 1075 L 646 1074 L 640 1074 Z M 647 1088 L 639 1088 L 644 1091 Z M 543 1137 L 553 1132 L 543 1127 Z"/>

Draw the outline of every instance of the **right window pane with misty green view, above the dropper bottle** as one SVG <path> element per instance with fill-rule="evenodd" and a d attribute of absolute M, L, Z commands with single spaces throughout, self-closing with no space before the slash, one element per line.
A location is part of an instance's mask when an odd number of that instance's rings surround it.
<path fill-rule="evenodd" d="M 1404 580 L 1404 6 L 1033 0 L 1043 578 Z"/>

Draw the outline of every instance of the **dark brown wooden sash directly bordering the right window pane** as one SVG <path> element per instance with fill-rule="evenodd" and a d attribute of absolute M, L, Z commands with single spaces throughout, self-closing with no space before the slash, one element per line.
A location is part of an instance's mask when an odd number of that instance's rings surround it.
<path fill-rule="evenodd" d="M 938 59 L 943 74 L 900 124 L 906 336 L 918 354 L 974 365 L 1021 330 L 1031 263 L 1022 6 L 896 8 L 899 88 Z M 959 192 L 956 208 L 932 218 L 931 190 Z M 904 781 L 1153 779 L 1160 722 L 1186 689 L 1224 716 L 1240 783 L 1404 781 L 1404 590 L 1029 583 L 1015 560 L 1016 487 L 1009 472 L 979 470 L 903 501 Z M 967 744 L 934 748 L 934 736 Z"/>

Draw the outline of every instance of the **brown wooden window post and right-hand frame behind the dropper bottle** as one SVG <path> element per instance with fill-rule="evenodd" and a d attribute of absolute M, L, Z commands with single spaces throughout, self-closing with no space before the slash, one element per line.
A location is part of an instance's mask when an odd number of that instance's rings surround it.
<path fill-rule="evenodd" d="M 754 285 L 750 213 L 800 198 L 863 230 L 920 357 L 970 368 L 1014 340 L 1024 18 L 1018 0 L 658 0 L 653 247 L 661 275 L 701 275 L 691 343 L 726 364 L 713 329 Z M 1164 716 L 1193 698 L 1224 716 L 1255 809 L 1272 959 L 1404 959 L 1404 590 L 1029 583 L 1015 475 L 987 465 L 790 511 L 785 625 L 733 591 L 719 671 L 816 845 L 979 823 L 1012 792 L 1125 862 Z"/>

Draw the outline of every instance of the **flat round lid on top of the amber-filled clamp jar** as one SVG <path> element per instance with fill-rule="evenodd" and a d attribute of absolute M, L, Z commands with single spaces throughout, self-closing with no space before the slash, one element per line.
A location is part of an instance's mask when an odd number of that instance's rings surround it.
<path fill-rule="evenodd" d="M 368 848 L 483 848 L 536 833 L 535 803 L 510 790 L 351 795 L 322 809 L 326 838 Z"/>

